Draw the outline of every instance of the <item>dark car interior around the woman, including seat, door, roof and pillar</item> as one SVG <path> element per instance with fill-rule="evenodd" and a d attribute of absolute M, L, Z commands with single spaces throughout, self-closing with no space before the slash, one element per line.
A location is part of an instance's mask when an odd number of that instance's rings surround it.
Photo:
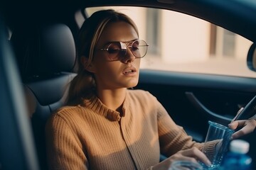
<path fill-rule="evenodd" d="M 69 82 L 76 75 L 75 36 L 92 7 L 143 6 L 186 13 L 252 42 L 245 62 L 254 77 L 141 69 L 134 89 L 156 96 L 193 140 L 204 141 L 208 120 L 228 125 L 256 94 L 253 1 L 76 0 L 57 4 L 5 1 L 0 8 L 0 169 L 48 169 L 46 121 L 65 103 Z M 242 139 L 250 142 L 249 154 L 256 160 L 255 132 Z M 165 159 L 161 156 L 160 161 Z"/>

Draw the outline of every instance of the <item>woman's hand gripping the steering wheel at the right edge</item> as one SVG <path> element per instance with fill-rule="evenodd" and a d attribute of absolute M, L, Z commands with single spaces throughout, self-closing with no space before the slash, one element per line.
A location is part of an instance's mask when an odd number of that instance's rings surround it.
<path fill-rule="evenodd" d="M 235 116 L 235 118 L 239 115 L 239 113 L 242 111 L 242 109 L 243 108 L 241 108 L 238 111 L 238 114 Z M 228 125 L 228 127 L 233 130 L 236 130 L 237 128 L 241 128 L 241 129 L 232 135 L 233 139 L 242 137 L 243 135 L 247 135 L 250 132 L 253 132 L 256 128 L 256 115 L 252 116 L 252 118 L 250 118 L 248 120 L 235 120 L 234 121 L 234 119 L 231 121 L 231 123 Z"/>

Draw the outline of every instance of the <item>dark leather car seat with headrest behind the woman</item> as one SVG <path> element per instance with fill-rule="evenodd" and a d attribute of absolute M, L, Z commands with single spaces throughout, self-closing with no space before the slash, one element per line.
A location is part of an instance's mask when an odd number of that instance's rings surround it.
<path fill-rule="evenodd" d="M 48 24 L 14 31 L 11 36 L 24 87 L 40 169 L 48 169 L 45 125 L 63 106 L 69 82 L 75 77 L 75 41 L 68 26 Z"/>

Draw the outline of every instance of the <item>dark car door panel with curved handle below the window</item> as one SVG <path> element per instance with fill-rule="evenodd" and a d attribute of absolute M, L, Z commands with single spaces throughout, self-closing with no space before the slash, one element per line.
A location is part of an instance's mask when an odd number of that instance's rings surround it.
<path fill-rule="evenodd" d="M 162 103 L 174 121 L 194 140 L 203 142 L 208 120 L 228 125 L 256 94 L 256 79 L 141 69 L 139 84 Z M 203 128 L 202 128 L 203 127 Z M 255 133 L 246 135 L 251 144 Z M 255 146 L 250 154 L 255 157 Z"/>

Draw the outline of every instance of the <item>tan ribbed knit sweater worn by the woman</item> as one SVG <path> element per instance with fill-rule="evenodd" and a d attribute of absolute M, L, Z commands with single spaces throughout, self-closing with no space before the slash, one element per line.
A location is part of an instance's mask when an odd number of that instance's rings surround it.
<path fill-rule="evenodd" d="M 123 115 L 97 98 L 65 106 L 46 125 L 50 169 L 148 169 L 181 149 L 198 147 L 147 91 L 127 90 Z"/>

